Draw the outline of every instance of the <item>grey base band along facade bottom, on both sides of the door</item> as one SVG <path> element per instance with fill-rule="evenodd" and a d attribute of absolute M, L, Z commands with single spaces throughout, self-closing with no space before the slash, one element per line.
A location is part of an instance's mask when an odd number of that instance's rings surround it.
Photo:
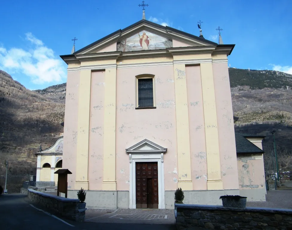
<path fill-rule="evenodd" d="M 77 199 L 78 190 L 68 190 L 67 197 Z M 165 191 L 165 209 L 174 209 L 174 192 Z M 184 191 L 185 204 L 222 205 L 223 195 L 239 195 L 239 190 L 189 190 Z M 129 208 L 129 191 L 86 190 L 87 208 Z"/>

